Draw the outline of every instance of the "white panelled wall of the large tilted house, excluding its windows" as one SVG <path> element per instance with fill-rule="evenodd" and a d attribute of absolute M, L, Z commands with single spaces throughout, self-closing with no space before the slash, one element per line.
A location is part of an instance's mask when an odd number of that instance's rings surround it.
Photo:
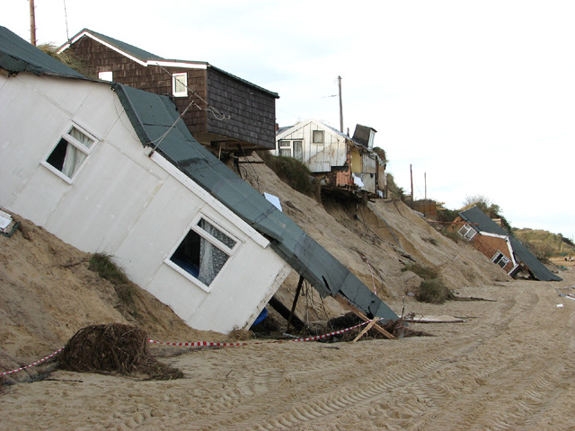
<path fill-rule="evenodd" d="M 41 163 L 72 124 L 100 142 L 70 183 Z M 193 328 L 251 324 L 287 277 L 285 261 L 217 199 L 146 153 L 110 85 L 0 76 L 0 206 L 80 250 L 110 253 Z M 164 263 L 199 214 L 239 240 L 208 292 Z"/>

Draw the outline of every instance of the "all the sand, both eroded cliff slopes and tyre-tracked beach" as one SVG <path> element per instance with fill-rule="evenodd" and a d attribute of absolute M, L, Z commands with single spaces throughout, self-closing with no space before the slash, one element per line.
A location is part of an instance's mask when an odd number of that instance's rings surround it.
<path fill-rule="evenodd" d="M 398 341 L 152 346 L 184 372 L 171 382 L 52 371 L 23 383 L 54 366 L 40 365 L 0 388 L 0 429 L 573 429 L 575 301 L 555 291 L 575 284 L 572 267 L 560 283 L 511 280 L 401 202 L 326 202 L 326 210 L 265 165 L 243 164 L 242 173 L 279 196 L 288 216 L 395 312 L 404 306 L 464 322 L 413 323 L 433 337 Z M 127 313 L 114 288 L 87 268 L 88 258 L 25 220 L 13 238 L 0 237 L 0 371 L 49 355 L 93 323 L 138 324 L 164 341 L 226 339 L 190 330 L 137 287 Z M 406 294 L 420 278 L 401 270 L 410 259 L 437 267 L 458 296 L 491 301 L 416 302 Z M 286 303 L 297 277 L 280 288 Z M 309 287 L 304 294 L 297 312 L 307 321 L 342 312 Z"/>

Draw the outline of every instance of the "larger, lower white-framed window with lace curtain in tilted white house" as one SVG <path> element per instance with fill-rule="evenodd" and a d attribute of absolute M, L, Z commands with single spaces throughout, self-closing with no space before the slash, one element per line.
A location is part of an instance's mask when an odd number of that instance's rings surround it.
<path fill-rule="evenodd" d="M 165 263 L 209 292 L 238 243 L 216 223 L 199 216 Z"/>

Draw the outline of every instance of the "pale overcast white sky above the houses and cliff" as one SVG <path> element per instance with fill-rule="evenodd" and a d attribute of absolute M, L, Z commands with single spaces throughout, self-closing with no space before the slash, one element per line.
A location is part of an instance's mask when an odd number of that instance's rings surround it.
<path fill-rule="evenodd" d="M 27 0 L 0 25 L 30 39 Z M 35 0 L 39 42 L 66 42 L 65 0 Z M 388 169 L 451 209 L 482 194 L 516 227 L 575 235 L 575 2 L 66 0 L 83 28 L 207 61 L 279 93 L 298 119 L 376 128 Z"/>

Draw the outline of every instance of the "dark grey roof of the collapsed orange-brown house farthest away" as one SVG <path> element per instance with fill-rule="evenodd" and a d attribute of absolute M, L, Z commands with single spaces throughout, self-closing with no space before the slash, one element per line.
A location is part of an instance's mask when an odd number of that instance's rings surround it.
<path fill-rule="evenodd" d="M 478 232 L 488 232 L 497 233 L 499 235 L 505 235 L 509 237 L 509 242 L 511 242 L 511 247 L 513 248 L 513 254 L 518 262 L 523 263 L 535 278 L 541 281 L 561 281 L 562 278 L 556 276 L 551 272 L 543 263 L 535 257 L 535 255 L 527 250 L 526 246 L 523 245 L 517 238 L 509 235 L 509 233 L 503 229 L 499 224 L 495 223 L 489 216 L 482 212 L 478 207 L 471 207 L 465 211 L 459 213 L 459 216 L 464 219 L 464 221 L 473 223 L 476 225 L 471 225 L 473 229 Z"/>

